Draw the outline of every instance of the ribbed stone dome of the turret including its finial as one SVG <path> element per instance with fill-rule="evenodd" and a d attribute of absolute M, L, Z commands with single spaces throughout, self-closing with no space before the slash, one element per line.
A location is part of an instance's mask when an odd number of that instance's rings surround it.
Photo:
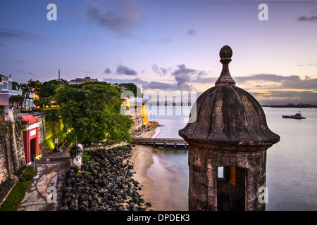
<path fill-rule="evenodd" d="M 228 65 L 232 49 L 223 46 L 220 62 L 223 70 L 215 86 L 197 98 L 191 115 L 194 122 L 180 129 L 179 134 L 190 143 L 216 143 L 237 146 L 271 146 L 280 140 L 266 123 L 261 105 L 247 91 L 235 86 Z M 235 148 L 235 150 L 252 148 Z"/>

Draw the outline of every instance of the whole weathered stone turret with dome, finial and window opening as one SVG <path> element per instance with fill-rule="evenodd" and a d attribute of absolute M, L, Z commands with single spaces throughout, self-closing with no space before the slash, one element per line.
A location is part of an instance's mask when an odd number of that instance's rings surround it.
<path fill-rule="evenodd" d="M 259 190 L 266 186 L 266 150 L 280 136 L 258 101 L 235 86 L 231 56 L 223 46 L 216 85 L 197 98 L 195 122 L 179 131 L 189 143 L 189 210 L 265 210 Z"/>

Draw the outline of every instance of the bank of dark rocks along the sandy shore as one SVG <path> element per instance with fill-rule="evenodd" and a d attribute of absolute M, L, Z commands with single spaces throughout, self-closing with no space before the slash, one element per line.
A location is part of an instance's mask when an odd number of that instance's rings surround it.
<path fill-rule="evenodd" d="M 87 152 L 89 161 L 73 165 L 66 178 L 62 211 L 144 211 L 145 203 L 137 192 L 139 182 L 132 179 L 129 164 L 132 148 L 121 146 Z"/>

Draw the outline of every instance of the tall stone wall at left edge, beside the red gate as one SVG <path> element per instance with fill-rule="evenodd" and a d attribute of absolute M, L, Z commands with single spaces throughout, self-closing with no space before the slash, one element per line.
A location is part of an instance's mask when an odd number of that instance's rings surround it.
<path fill-rule="evenodd" d="M 0 184 L 25 165 L 20 122 L 0 124 Z"/>

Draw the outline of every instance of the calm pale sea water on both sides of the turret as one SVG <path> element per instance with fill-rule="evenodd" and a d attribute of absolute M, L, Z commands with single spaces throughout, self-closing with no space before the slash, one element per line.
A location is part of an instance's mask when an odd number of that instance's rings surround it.
<path fill-rule="evenodd" d="M 162 125 L 156 129 L 154 137 L 180 138 L 178 130 L 185 127 L 183 120 L 187 116 L 177 115 L 178 109 L 167 106 L 163 115 L 152 112 L 152 120 L 155 114 L 154 120 Z M 264 107 L 263 110 L 268 127 L 280 135 L 280 142 L 267 152 L 266 210 L 317 210 L 317 109 Z M 306 120 L 282 118 L 282 115 L 294 115 L 299 110 Z M 150 120 L 150 111 L 148 115 Z M 178 198 L 182 198 L 182 205 L 187 207 L 188 151 L 164 150 L 161 158 L 164 159 L 162 162 L 168 162 L 178 170 L 182 177 L 184 182 L 180 183 L 180 190 L 185 191 Z"/>

